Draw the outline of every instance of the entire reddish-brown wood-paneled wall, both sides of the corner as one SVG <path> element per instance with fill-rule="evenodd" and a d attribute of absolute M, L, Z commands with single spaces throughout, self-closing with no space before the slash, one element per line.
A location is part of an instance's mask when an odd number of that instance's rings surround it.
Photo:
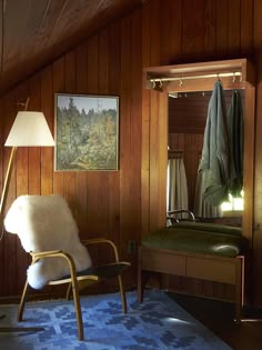
<path fill-rule="evenodd" d="M 3 149 L 17 102 L 31 97 L 53 129 L 54 92 L 120 96 L 120 170 L 53 172 L 52 149 L 19 150 L 9 203 L 21 193 L 62 193 L 78 220 L 81 237 L 107 236 L 128 256 L 129 239 L 164 224 L 168 99 L 142 89 L 142 67 L 249 57 L 258 72 L 255 151 L 255 302 L 262 304 L 262 2 L 260 0 L 148 0 L 82 46 L 34 74 L 0 100 L 0 181 L 9 150 Z M 101 254 L 100 254 L 101 257 Z M 27 256 L 4 234 L 0 243 L 2 296 L 21 291 Z M 131 270 L 134 272 L 134 269 Z M 130 273 L 132 280 L 132 273 Z M 134 278 L 134 274 L 133 274 Z M 134 281 L 134 280 L 133 280 Z M 131 282 L 132 283 L 132 282 Z M 224 286 L 177 280 L 178 289 L 226 297 Z M 198 282 L 199 283 L 199 282 Z"/>

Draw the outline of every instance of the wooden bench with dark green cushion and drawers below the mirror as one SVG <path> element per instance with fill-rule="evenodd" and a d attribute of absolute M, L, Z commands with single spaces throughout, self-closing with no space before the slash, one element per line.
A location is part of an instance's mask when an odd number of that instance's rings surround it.
<path fill-rule="evenodd" d="M 142 301 L 144 272 L 162 272 L 235 286 L 235 320 L 243 307 L 244 258 L 249 241 L 242 229 L 230 226 L 181 221 L 161 228 L 139 247 L 138 297 Z"/>

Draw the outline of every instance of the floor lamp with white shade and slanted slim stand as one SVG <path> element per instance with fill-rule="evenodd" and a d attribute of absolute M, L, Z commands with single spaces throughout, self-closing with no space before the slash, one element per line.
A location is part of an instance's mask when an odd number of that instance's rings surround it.
<path fill-rule="evenodd" d="M 7 173 L 4 178 L 1 202 L 0 202 L 0 222 L 3 223 L 4 209 L 8 197 L 8 189 L 10 183 L 10 178 L 12 174 L 12 168 L 16 160 L 18 147 L 53 147 L 54 140 L 48 127 L 47 120 L 42 112 L 28 111 L 29 99 L 23 103 L 24 110 L 19 111 L 12 128 L 9 132 L 4 146 L 11 147 L 11 154 L 8 162 Z M 20 103 L 21 104 L 21 103 Z M 0 319 L 3 319 L 0 316 Z M 42 330 L 39 328 L 22 328 L 22 327 L 0 327 L 0 332 L 10 331 L 33 331 Z"/>

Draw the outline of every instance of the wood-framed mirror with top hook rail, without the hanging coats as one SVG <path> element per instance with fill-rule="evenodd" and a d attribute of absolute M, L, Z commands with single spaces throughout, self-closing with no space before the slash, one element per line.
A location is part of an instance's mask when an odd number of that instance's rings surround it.
<path fill-rule="evenodd" d="M 167 162 L 177 163 L 174 169 L 182 169 L 177 177 L 183 177 L 183 172 L 187 177 L 187 189 L 180 186 L 180 200 L 181 191 L 187 191 L 185 207 L 195 217 L 210 222 L 242 226 L 243 234 L 250 239 L 252 247 L 255 92 L 253 66 L 246 59 L 239 59 L 155 67 L 145 69 L 144 73 L 148 88 L 168 94 Z M 239 91 L 243 108 L 243 202 L 233 200 L 231 210 L 230 208 L 225 210 L 226 203 L 224 210 L 220 207 L 198 208 L 198 203 L 200 206 L 198 196 L 201 193 L 198 169 L 203 148 L 208 106 L 218 80 L 223 87 L 226 110 L 234 91 Z M 170 181 L 169 174 L 168 188 Z M 170 199 L 168 193 L 169 191 L 167 191 L 167 210 L 170 200 L 177 201 Z"/>

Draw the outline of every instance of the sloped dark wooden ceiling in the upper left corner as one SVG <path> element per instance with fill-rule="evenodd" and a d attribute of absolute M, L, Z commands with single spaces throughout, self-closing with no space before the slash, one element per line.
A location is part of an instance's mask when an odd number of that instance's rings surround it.
<path fill-rule="evenodd" d="M 0 94 L 141 0 L 1 0 Z"/>

